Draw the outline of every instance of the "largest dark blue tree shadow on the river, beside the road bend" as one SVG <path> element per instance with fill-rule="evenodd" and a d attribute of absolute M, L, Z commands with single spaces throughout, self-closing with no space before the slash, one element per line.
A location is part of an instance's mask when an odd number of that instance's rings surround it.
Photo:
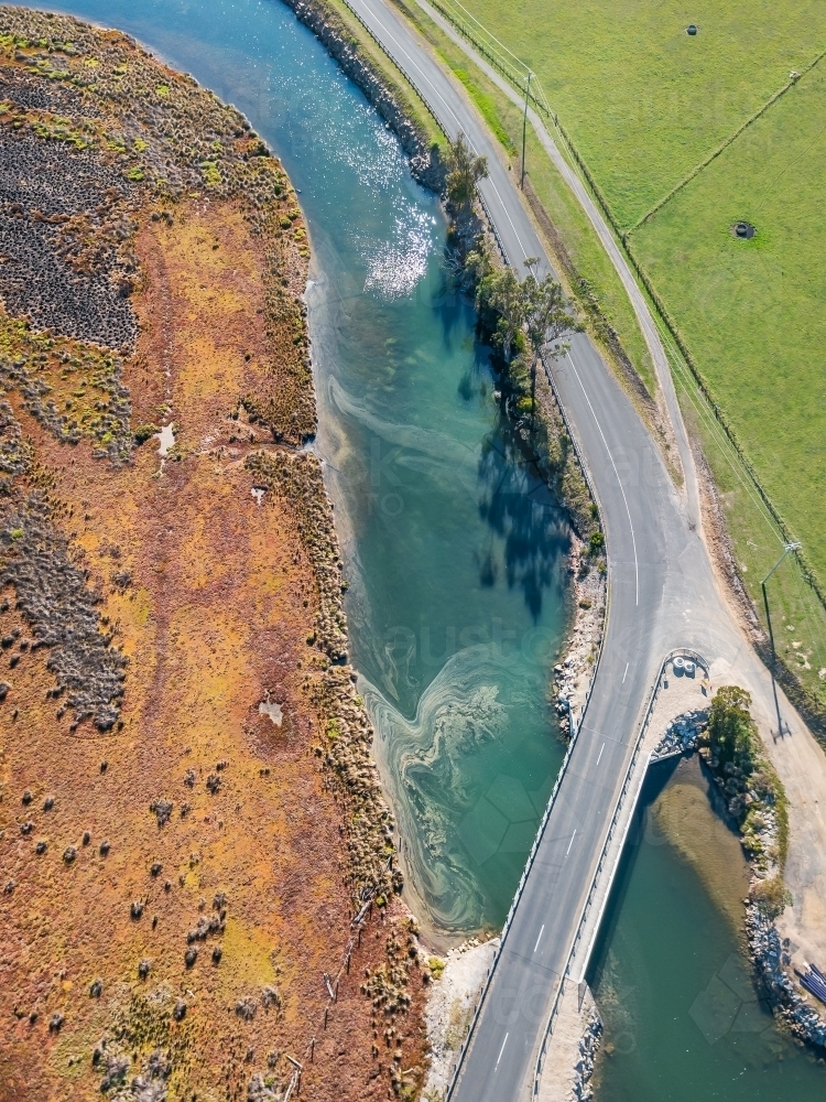
<path fill-rule="evenodd" d="M 567 549 L 565 515 L 503 417 L 482 442 L 478 474 L 479 515 L 503 541 L 508 586 L 522 590 L 535 623 Z M 480 583 L 496 584 L 491 551 L 480 560 Z"/>

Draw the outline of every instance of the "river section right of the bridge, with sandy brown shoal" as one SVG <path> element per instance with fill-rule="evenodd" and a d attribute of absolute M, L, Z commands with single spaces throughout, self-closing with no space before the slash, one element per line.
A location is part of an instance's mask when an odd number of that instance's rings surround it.
<path fill-rule="evenodd" d="M 824 1096 L 823 1067 L 752 983 L 748 871 L 718 801 L 696 757 L 645 781 L 588 976 L 605 1023 L 597 1102 Z"/>

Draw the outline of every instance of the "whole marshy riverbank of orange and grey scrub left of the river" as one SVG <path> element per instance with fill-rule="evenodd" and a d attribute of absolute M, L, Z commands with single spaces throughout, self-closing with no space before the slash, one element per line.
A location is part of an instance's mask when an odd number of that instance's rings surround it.
<path fill-rule="evenodd" d="M 384 1098 L 426 979 L 298 451 L 295 191 L 129 36 L 0 26 L 6 1093 Z"/>

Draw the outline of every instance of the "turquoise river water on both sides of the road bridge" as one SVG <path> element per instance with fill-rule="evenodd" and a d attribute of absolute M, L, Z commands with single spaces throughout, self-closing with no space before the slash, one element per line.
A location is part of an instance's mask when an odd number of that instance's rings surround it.
<path fill-rule="evenodd" d="M 275 0 L 64 10 L 128 31 L 236 104 L 300 190 L 316 447 L 407 890 L 444 939 L 497 927 L 562 759 L 545 693 L 568 533 L 500 422 L 472 313 L 445 284 L 435 198 Z M 822 1070 L 758 1005 L 736 929 L 674 845 L 644 844 L 650 833 L 629 851 L 595 963 L 612 1049 L 600 1102 L 822 1098 Z M 743 1028 L 722 1028 L 715 980 L 738 1013 L 748 1004 L 751 1027 L 743 1013 Z"/>

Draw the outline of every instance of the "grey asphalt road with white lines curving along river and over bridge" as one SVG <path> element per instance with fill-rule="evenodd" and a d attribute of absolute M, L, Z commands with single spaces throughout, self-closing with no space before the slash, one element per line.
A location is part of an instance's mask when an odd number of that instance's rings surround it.
<path fill-rule="evenodd" d="M 447 133 L 455 138 L 461 130 L 487 155 L 490 175 L 480 192 L 509 263 L 524 273 L 525 258 L 539 257 L 550 271 L 494 140 L 461 91 L 382 0 L 348 3 Z M 596 347 L 576 335 L 553 370 L 599 499 L 609 619 L 590 703 L 470 1038 L 455 1102 L 530 1098 L 554 993 L 662 658 L 686 646 L 733 660 L 743 647 L 687 504 Z"/>

